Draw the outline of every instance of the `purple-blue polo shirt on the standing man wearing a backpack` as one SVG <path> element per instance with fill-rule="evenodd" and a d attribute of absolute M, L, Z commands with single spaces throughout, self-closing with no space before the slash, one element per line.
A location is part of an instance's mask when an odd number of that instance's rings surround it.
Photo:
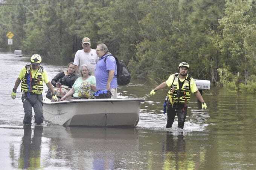
<path fill-rule="evenodd" d="M 110 54 L 110 53 L 109 53 Z M 101 58 L 99 58 L 98 63 L 96 64 L 95 68 L 95 78 L 96 78 L 96 89 L 97 90 L 104 90 L 107 88 L 108 82 L 108 71 L 114 70 L 115 74 L 110 83 L 110 88 L 114 89 L 117 88 L 117 69 L 116 69 L 116 59 L 113 56 L 108 56 L 106 59 L 106 63 L 104 62 L 106 56 L 105 54 Z"/>

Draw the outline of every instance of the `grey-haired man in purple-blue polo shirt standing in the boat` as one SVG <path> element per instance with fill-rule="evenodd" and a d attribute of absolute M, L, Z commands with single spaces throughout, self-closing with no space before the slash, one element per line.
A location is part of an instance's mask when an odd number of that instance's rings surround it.
<path fill-rule="evenodd" d="M 99 57 L 95 68 L 96 89 L 110 90 L 112 98 L 117 98 L 116 59 L 108 52 L 105 44 L 97 45 L 96 53 Z"/>

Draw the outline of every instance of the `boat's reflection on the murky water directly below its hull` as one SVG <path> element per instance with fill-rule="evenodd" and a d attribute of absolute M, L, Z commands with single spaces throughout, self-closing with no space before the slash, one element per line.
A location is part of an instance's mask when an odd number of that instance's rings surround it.
<path fill-rule="evenodd" d="M 120 155 L 133 156 L 139 144 L 135 128 L 56 127 L 55 131 L 44 128 L 44 133 L 51 138 L 49 144 L 54 148 L 49 155 L 65 159 L 79 169 L 116 169 L 114 163 Z"/>

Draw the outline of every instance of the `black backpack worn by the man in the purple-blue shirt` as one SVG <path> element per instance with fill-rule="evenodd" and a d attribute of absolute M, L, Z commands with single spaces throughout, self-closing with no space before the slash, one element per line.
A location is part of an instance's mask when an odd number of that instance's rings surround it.
<path fill-rule="evenodd" d="M 106 63 L 108 56 L 113 56 L 113 55 L 112 54 L 107 55 L 104 60 L 105 63 Z M 115 56 L 113 56 L 113 57 L 115 57 Z M 131 81 L 131 74 L 130 74 L 127 66 L 123 62 L 123 60 L 121 60 L 119 62 L 119 60 L 116 57 L 115 57 L 115 59 L 116 59 L 116 68 L 117 68 L 117 85 L 125 86 L 125 85 L 129 84 Z"/>

